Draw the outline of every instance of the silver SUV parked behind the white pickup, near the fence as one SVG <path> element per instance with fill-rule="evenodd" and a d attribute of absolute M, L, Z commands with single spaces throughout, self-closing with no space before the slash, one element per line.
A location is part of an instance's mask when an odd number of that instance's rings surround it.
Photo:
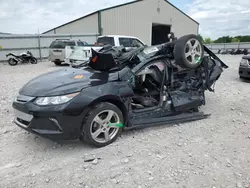
<path fill-rule="evenodd" d="M 60 65 L 65 61 L 65 47 L 69 46 L 74 48 L 75 46 L 87 46 L 88 43 L 80 40 L 69 40 L 69 39 L 57 39 L 49 46 L 49 61 L 54 62 L 56 65 Z"/>

